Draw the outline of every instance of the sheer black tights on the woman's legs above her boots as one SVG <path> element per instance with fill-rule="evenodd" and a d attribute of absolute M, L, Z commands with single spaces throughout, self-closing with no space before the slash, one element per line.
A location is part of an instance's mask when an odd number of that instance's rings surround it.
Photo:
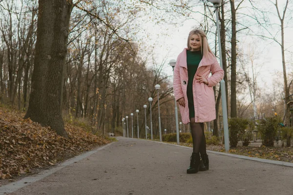
<path fill-rule="evenodd" d="M 207 154 L 204 123 L 196 123 L 194 118 L 190 118 L 190 129 L 193 142 L 193 152 L 199 152 L 201 155 Z"/>

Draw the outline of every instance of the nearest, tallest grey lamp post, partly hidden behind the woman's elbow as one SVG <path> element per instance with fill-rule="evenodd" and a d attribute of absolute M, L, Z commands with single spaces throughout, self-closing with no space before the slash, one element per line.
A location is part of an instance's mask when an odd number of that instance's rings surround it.
<path fill-rule="evenodd" d="M 209 0 L 209 2 L 214 4 L 216 18 L 217 18 L 217 31 L 218 31 L 218 45 L 219 45 L 219 56 L 220 56 L 220 65 L 223 68 L 223 60 L 222 60 L 222 48 L 221 48 L 221 35 L 220 35 L 220 27 L 219 27 L 219 4 L 221 0 Z M 229 127 L 228 127 L 228 114 L 227 114 L 227 100 L 226 100 L 226 88 L 224 79 L 220 82 L 222 96 L 222 110 L 223 110 L 223 125 L 224 125 L 224 139 L 225 139 L 225 150 L 229 151 Z"/>

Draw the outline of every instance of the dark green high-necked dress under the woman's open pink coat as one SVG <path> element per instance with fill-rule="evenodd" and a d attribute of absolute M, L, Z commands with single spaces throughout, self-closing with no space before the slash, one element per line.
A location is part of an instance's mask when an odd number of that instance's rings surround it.
<path fill-rule="evenodd" d="M 187 69 L 188 69 L 188 83 L 187 83 L 187 98 L 188 105 L 193 105 L 192 83 L 194 75 L 197 71 L 199 62 L 203 56 L 201 51 L 187 51 Z M 188 106 L 189 107 L 189 106 Z"/>

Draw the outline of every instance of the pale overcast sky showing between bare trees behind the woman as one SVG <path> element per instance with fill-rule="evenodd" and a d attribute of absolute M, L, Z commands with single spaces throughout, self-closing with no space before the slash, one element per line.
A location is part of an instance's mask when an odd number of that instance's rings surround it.
<path fill-rule="evenodd" d="M 280 10 L 283 10 L 282 6 L 284 5 L 284 2 L 285 0 L 279 0 Z M 267 5 L 268 10 L 276 13 L 275 7 L 272 4 L 267 3 Z M 229 6 L 230 4 L 228 3 L 227 8 L 229 8 Z M 290 2 L 290 8 L 293 8 L 293 2 Z M 195 9 L 196 11 L 200 11 L 199 7 L 195 7 Z M 177 22 L 173 21 L 174 23 L 176 22 L 177 25 L 169 25 L 162 22 L 160 25 L 156 25 L 151 21 L 143 23 L 142 27 L 144 28 L 144 34 L 148 35 L 144 42 L 146 45 L 154 47 L 158 63 L 161 63 L 164 60 L 167 60 L 168 62 L 170 59 L 176 59 L 178 54 L 186 47 L 189 31 L 192 30 L 194 26 L 199 25 L 199 23 L 192 20 L 192 18 L 195 20 L 202 20 L 200 15 L 193 15 L 187 20 L 178 20 Z M 291 17 L 287 12 L 286 20 L 289 23 L 289 26 L 285 29 L 285 48 L 288 51 L 293 52 L 293 20 L 290 19 Z M 271 22 L 279 23 L 276 15 L 272 15 L 270 20 Z M 277 37 L 279 37 L 278 39 L 281 39 L 280 33 Z M 250 35 L 239 35 L 237 40 L 239 41 L 237 46 L 244 50 L 244 52 L 248 52 L 248 48 L 252 45 L 254 50 L 257 51 L 255 53 L 258 53 L 255 57 L 255 64 L 262 64 L 261 74 L 258 78 L 258 85 L 260 87 L 272 85 L 272 78 L 275 77 L 275 72 L 283 70 L 280 46 L 272 40 L 264 41 Z M 213 43 L 214 37 L 209 37 L 209 42 Z M 291 54 L 286 54 L 288 72 L 292 70 L 292 57 L 293 56 Z M 172 75 L 172 68 L 170 68 L 167 63 L 165 64 L 164 71 L 168 75 Z M 269 90 L 269 88 L 266 88 L 266 90 Z"/>

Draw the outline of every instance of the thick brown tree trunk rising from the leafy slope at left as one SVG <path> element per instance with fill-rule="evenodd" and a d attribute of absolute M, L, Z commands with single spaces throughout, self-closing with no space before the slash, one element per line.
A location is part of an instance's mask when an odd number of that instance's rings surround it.
<path fill-rule="evenodd" d="M 32 89 L 24 117 L 50 126 L 63 137 L 68 137 L 61 107 L 71 11 L 72 2 L 68 0 L 39 0 Z"/>

